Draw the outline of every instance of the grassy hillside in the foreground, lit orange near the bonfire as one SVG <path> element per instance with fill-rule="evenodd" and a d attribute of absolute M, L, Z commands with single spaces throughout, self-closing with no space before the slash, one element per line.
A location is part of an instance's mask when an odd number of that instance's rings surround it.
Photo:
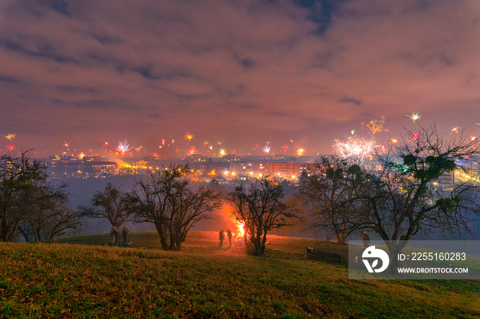
<path fill-rule="evenodd" d="M 0 316 L 6 318 L 480 318 L 479 281 L 348 280 L 346 262 L 304 257 L 317 246 L 270 236 L 267 255 L 217 248 L 217 233 L 189 233 L 182 252 L 156 233 L 57 244 L 0 243 Z"/>

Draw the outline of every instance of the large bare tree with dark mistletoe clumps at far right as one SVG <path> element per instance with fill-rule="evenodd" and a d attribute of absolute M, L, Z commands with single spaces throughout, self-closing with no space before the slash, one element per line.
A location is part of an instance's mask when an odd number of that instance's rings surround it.
<path fill-rule="evenodd" d="M 374 156 L 375 169 L 365 168 L 368 214 L 362 228 L 385 240 L 392 272 L 398 266 L 396 256 L 419 231 L 459 233 L 480 214 L 477 177 L 462 164 L 478 156 L 478 140 L 470 140 L 463 131 L 446 140 L 435 125 L 405 130 L 398 145 Z M 457 179 L 458 172 L 473 178 Z"/>

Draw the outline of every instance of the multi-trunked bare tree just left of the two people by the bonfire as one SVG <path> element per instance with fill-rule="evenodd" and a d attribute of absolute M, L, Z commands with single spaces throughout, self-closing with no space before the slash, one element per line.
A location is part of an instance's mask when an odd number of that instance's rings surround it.
<path fill-rule="evenodd" d="M 189 165 L 170 164 L 147 179 L 136 181 L 128 194 L 129 211 L 135 222 L 155 225 L 162 248 L 180 251 L 188 231 L 221 207 L 219 194 L 199 186 L 193 189 L 185 179 Z"/>

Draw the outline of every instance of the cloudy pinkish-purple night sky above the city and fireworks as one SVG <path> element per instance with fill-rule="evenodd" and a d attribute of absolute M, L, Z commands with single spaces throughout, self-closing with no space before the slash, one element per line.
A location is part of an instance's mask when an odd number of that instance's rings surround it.
<path fill-rule="evenodd" d="M 1 0 L 0 133 L 50 155 L 313 155 L 418 112 L 479 135 L 479 38 L 479 1 Z"/>

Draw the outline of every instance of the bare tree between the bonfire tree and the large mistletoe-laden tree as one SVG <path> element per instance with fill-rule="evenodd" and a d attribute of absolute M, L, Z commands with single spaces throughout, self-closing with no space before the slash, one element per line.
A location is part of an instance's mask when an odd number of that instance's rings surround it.
<path fill-rule="evenodd" d="M 357 164 L 331 156 L 317 160 L 302 173 L 297 192 L 307 224 L 333 233 L 335 242 L 344 244 L 359 227 L 363 205 L 358 196 L 364 184 Z"/>

